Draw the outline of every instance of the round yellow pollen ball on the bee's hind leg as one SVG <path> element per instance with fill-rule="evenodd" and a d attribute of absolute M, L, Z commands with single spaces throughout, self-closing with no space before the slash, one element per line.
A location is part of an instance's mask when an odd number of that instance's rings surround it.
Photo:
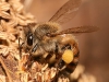
<path fill-rule="evenodd" d="M 62 60 L 65 63 L 70 63 L 73 60 L 74 56 L 73 56 L 73 51 L 71 49 L 66 49 L 64 50 L 63 55 L 62 55 Z"/>

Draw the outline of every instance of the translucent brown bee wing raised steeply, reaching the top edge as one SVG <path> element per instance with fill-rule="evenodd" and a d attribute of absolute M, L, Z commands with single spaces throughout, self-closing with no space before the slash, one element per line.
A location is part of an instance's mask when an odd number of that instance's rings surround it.
<path fill-rule="evenodd" d="M 49 21 L 57 22 L 59 24 L 63 24 L 70 21 L 75 15 L 80 4 L 81 0 L 69 0 L 56 12 L 56 14 Z"/>

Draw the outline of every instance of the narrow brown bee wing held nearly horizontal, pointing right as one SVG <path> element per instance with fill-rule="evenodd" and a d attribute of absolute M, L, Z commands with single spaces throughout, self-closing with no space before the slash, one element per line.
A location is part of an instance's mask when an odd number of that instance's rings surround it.
<path fill-rule="evenodd" d="M 99 27 L 96 26 L 78 26 L 78 27 L 71 27 L 59 33 L 49 34 L 49 36 L 57 36 L 62 34 L 81 34 L 81 33 L 92 33 L 98 31 Z"/>

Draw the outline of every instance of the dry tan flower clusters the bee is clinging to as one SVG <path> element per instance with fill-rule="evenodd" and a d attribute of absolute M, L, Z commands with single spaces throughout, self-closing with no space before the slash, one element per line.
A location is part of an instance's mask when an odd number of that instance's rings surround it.
<path fill-rule="evenodd" d="M 51 82 L 56 77 L 57 69 L 48 68 L 48 63 L 35 61 L 26 70 L 28 54 L 23 52 L 20 59 L 19 37 L 23 36 L 23 26 L 34 22 L 20 0 L 0 0 L 0 82 Z M 93 75 L 84 73 L 83 66 L 72 74 L 72 82 L 75 81 L 96 82 Z M 59 78 L 58 82 L 69 82 L 69 79 Z"/>

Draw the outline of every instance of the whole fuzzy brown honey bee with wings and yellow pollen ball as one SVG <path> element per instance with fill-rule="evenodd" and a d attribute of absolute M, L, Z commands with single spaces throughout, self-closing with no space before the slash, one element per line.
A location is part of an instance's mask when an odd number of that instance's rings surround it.
<path fill-rule="evenodd" d="M 78 63 L 80 49 L 73 34 L 92 33 L 96 26 L 78 26 L 62 30 L 61 24 L 71 20 L 81 0 L 69 0 L 46 23 L 33 23 L 24 27 L 24 49 L 41 63 L 56 67 L 61 74 L 70 75 Z"/>

